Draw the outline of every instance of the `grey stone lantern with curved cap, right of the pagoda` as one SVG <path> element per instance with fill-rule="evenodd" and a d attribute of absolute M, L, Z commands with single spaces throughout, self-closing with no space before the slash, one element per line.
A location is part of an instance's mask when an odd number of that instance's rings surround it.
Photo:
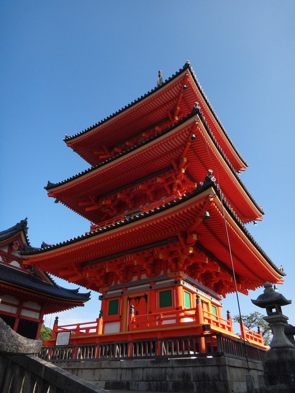
<path fill-rule="evenodd" d="M 269 324 L 272 330 L 272 340 L 269 344 L 271 349 L 279 348 L 294 348 L 292 342 L 285 335 L 285 327 L 288 325 L 288 317 L 282 313 L 282 306 L 287 306 L 292 303 L 287 300 L 282 294 L 275 292 L 269 282 L 264 284 L 265 290 L 262 295 L 259 295 L 257 300 L 251 300 L 255 306 L 266 309 L 266 314 L 263 319 Z"/>

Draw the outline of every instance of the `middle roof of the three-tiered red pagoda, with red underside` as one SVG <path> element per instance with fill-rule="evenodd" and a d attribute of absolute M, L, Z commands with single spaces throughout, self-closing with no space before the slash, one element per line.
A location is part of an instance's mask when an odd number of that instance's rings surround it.
<path fill-rule="evenodd" d="M 194 107 L 191 114 L 180 119 L 174 126 L 60 183 L 48 182 L 45 189 L 50 191 L 50 196 L 58 198 L 70 209 L 97 223 L 95 211 L 86 212 L 84 206 L 79 205 L 83 198 L 90 195 L 101 197 L 115 192 L 126 184 L 170 167 L 172 162 L 181 156 L 188 138 L 190 140 L 192 127 L 199 122 L 199 128 L 202 128 L 202 135 L 205 138 L 198 137 L 191 142 L 191 149 L 186 153 L 189 160 L 187 172 L 195 182 L 203 181 L 205 172 L 212 166 L 213 158 L 215 167 L 219 168 L 218 182 L 236 213 L 244 223 L 257 220 L 264 214 L 262 208 L 237 176 L 235 169 L 203 120 L 200 110 Z M 195 133 L 197 134 L 196 131 Z M 211 154 L 208 153 L 207 143 L 212 145 L 215 152 L 212 150 Z"/>

